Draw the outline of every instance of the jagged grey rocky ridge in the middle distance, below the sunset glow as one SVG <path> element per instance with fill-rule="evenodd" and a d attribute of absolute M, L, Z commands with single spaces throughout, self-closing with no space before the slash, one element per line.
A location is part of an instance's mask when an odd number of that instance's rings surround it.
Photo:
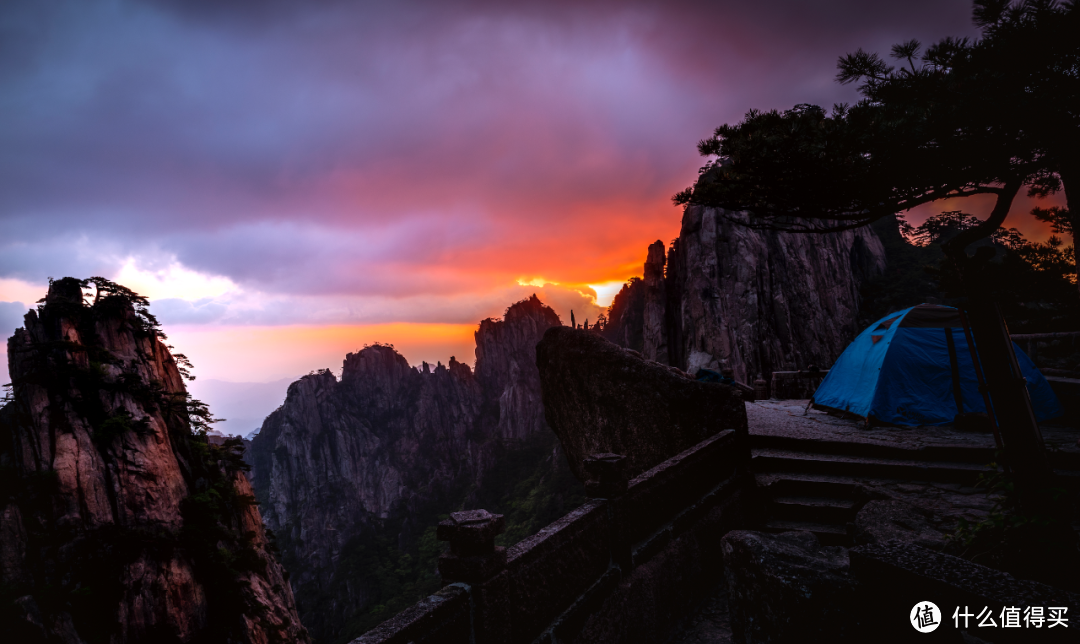
<path fill-rule="evenodd" d="M 410 367 L 393 347 L 374 345 L 346 357 L 340 380 L 322 371 L 289 387 L 248 459 L 316 639 L 348 641 L 424 585 L 437 588 L 433 565 L 408 573 L 433 564 L 437 514 L 477 504 L 503 511 L 503 495 L 541 461 L 540 480 L 568 478 L 536 367 L 537 344 L 559 324 L 532 296 L 503 320 L 481 322 L 475 372 L 454 358 Z M 565 511 L 551 502 L 532 514 Z M 382 608 L 402 598 L 411 599 Z"/>

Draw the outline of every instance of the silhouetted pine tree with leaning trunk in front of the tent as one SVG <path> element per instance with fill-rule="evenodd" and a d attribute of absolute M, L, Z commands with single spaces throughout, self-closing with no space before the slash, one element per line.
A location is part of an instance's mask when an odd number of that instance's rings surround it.
<path fill-rule="evenodd" d="M 983 33 L 973 42 L 947 38 L 924 53 L 915 40 L 894 45 L 897 67 L 862 50 L 841 57 L 837 80 L 862 82 L 854 106 L 751 110 L 717 128 L 699 144 L 715 158 L 674 201 L 725 209 L 751 227 L 814 232 L 994 194 L 986 218 L 943 250 L 954 287 L 968 296 L 1009 462 L 1038 488 L 1050 478 L 1042 437 L 990 285 L 980 280 L 994 251 L 969 257 L 964 249 L 998 230 L 1025 188 L 1031 196 L 1064 188 L 1064 219 L 1080 215 L 1080 10 L 976 0 L 974 21 Z"/>

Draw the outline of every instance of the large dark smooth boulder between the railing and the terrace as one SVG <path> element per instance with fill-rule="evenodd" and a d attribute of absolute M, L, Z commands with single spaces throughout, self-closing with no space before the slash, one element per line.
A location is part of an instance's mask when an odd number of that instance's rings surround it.
<path fill-rule="evenodd" d="M 725 429 L 746 434 L 737 389 L 696 381 L 635 353 L 562 326 L 537 346 L 544 415 L 581 481 L 590 454 L 625 456 L 633 478 Z"/>

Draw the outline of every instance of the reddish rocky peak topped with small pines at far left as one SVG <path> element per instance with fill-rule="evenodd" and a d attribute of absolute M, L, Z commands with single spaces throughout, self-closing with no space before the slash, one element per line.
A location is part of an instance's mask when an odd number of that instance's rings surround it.
<path fill-rule="evenodd" d="M 192 431 L 208 414 L 145 305 L 105 280 L 65 278 L 8 341 L 4 636 L 305 641 L 244 464 L 234 445 Z"/>

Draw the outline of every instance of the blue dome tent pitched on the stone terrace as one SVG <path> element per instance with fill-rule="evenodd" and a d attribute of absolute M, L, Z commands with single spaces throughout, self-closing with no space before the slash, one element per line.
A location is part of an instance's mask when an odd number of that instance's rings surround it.
<path fill-rule="evenodd" d="M 1063 414 L 1031 360 L 1013 344 L 1036 418 Z M 890 313 L 845 349 L 813 403 L 893 425 L 947 425 L 986 412 L 971 351 L 953 307 L 930 304 Z"/>

